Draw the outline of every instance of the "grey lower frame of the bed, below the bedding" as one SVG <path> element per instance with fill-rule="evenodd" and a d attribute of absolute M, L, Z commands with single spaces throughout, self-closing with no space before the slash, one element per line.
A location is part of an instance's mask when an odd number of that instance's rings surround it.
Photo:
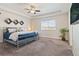
<path fill-rule="evenodd" d="M 10 43 L 10 44 L 13 44 L 15 45 L 16 47 L 20 47 L 24 44 L 27 44 L 29 42 L 32 42 L 32 41 L 35 41 L 35 40 L 38 40 L 39 39 L 39 36 L 38 34 L 34 35 L 34 36 L 31 36 L 31 37 L 27 37 L 27 38 L 21 38 L 21 39 L 17 39 L 17 41 L 13 41 L 11 39 L 4 39 L 4 42 L 7 42 L 7 43 Z"/>

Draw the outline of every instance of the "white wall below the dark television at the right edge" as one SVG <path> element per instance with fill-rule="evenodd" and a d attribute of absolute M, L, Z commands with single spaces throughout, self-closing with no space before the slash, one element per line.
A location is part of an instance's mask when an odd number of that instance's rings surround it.
<path fill-rule="evenodd" d="M 79 24 L 73 25 L 72 50 L 74 55 L 79 56 Z"/>

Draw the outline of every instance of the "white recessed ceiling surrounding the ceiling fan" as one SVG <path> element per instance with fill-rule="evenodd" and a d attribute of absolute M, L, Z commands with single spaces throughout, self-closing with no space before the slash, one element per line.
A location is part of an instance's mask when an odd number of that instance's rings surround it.
<path fill-rule="evenodd" d="M 40 9 L 40 12 L 38 12 L 37 14 L 27 13 L 25 8 L 29 6 L 29 3 L 0 3 L 0 6 L 12 9 L 16 12 L 20 12 L 29 16 L 43 15 L 57 11 L 67 12 L 70 7 L 69 3 L 35 3 L 34 5 L 36 5 L 37 8 Z"/>

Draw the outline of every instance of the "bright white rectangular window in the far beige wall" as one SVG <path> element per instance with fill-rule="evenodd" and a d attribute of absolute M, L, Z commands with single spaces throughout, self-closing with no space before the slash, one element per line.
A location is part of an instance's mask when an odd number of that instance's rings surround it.
<path fill-rule="evenodd" d="M 56 30 L 56 20 L 41 21 L 41 30 Z"/>

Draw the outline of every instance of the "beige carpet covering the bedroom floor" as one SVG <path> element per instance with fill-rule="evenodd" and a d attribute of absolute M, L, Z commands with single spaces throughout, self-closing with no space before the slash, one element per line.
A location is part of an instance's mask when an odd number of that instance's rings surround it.
<path fill-rule="evenodd" d="M 40 38 L 37 41 L 31 42 L 16 48 L 13 45 L 0 44 L 0 55 L 2 56 L 72 56 L 72 51 L 67 42 Z"/>

